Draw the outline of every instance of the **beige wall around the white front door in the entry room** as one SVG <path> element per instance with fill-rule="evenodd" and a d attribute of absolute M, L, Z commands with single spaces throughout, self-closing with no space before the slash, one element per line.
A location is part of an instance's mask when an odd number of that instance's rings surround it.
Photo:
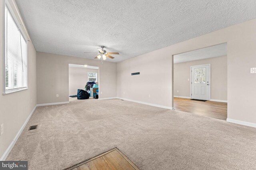
<path fill-rule="evenodd" d="M 227 100 L 227 56 L 174 64 L 174 96 L 190 97 L 190 66 L 211 64 L 211 98 Z M 179 92 L 177 92 L 177 90 Z"/>

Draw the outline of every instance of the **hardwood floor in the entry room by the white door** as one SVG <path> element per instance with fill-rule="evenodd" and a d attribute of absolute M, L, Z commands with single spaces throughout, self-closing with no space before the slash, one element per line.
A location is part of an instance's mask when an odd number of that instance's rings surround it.
<path fill-rule="evenodd" d="M 212 117 L 215 119 L 227 119 L 227 103 L 223 102 L 200 102 L 184 98 L 174 98 L 174 109 Z"/>

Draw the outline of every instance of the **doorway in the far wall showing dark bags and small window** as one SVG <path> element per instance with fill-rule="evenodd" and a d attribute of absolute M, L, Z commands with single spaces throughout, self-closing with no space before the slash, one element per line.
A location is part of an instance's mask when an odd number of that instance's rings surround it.
<path fill-rule="evenodd" d="M 69 101 L 77 99 L 78 89 L 85 90 L 89 98 L 98 95 L 99 67 L 68 64 Z"/>

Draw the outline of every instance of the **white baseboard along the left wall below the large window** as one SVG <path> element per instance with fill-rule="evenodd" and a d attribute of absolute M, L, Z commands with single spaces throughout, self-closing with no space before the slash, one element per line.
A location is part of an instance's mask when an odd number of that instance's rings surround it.
<path fill-rule="evenodd" d="M 14 147 L 16 141 L 18 140 L 18 138 L 20 137 L 20 134 L 22 133 L 24 127 L 27 125 L 30 117 L 32 116 L 32 114 L 34 113 L 35 109 L 37 106 L 34 107 L 34 109 L 32 110 L 32 112 L 30 113 L 30 115 L 28 116 L 28 118 L 26 119 L 26 121 L 23 123 L 22 127 L 20 128 L 20 130 L 18 131 L 18 133 L 16 134 L 16 136 L 14 137 L 14 139 L 12 140 L 12 142 L 10 143 L 9 147 L 6 149 L 6 151 L 4 152 L 4 154 L 2 155 L 2 157 L 0 158 L 0 161 L 4 161 L 6 160 L 8 154 L 10 153 L 10 151 L 12 150 L 12 148 Z"/>

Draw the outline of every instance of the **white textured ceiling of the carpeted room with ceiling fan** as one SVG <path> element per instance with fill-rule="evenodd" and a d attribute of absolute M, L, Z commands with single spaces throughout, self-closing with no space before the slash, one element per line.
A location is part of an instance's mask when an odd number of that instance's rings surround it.
<path fill-rule="evenodd" d="M 36 51 L 119 62 L 256 18 L 255 0 L 16 0 Z"/>

